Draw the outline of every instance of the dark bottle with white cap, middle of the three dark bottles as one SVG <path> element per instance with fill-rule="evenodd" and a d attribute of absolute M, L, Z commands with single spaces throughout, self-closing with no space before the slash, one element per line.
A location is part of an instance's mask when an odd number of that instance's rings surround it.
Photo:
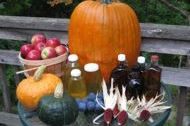
<path fill-rule="evenodd" d="M 139 56 L 137 59 L 137 65 L 135 65 L 129 73 L 129 88 L 128 97 L 140 97 L 143 93 L 144 87 L 144 70 L 145 70 L 145 57 Z"/>

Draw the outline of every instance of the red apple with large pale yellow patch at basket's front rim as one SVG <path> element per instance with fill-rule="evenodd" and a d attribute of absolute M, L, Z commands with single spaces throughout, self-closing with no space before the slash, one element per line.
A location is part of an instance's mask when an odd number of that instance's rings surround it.
<path fill-rule="evenodd" d="M 56 56 L 57 56 L 56 51 L 52 47 L 45 47 L 41 52 L 42 59 L 49 59 Z"/>

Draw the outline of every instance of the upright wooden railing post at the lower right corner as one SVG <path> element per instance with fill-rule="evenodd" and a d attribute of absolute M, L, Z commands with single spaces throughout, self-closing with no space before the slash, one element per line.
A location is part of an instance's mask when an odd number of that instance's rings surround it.
<path fill-rule="evenodd" d="M 187 87 L 180 87 L 179 99 L 177 103 L 177 119 L 176 126 L 182 126 L 183 116 L 185 112 L 185 103 L 187 97 Z"/>

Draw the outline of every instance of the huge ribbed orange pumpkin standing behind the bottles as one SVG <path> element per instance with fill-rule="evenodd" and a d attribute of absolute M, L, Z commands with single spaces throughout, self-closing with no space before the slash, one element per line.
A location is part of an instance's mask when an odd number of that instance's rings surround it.
<path fill-rule="evenodd" d="M 72 13 L 69 48 L 80 63 L 96 62 L 106 80 L 125 53 L 131 67 L 140 52 L 140 26 L 133 9 L 120 2 L 84 1 Z"/>

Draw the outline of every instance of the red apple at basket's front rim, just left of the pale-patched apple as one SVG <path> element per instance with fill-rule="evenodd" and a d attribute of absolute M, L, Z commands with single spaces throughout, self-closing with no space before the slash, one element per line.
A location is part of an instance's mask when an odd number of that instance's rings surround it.
<path fill-rule="evenodd" d="M 26 56 L 27 60 L 40 60 L 41 59 L 41 55 L 40 55 L 40 51 L 37 50 L 31 50 L 28 55 Z"/>

